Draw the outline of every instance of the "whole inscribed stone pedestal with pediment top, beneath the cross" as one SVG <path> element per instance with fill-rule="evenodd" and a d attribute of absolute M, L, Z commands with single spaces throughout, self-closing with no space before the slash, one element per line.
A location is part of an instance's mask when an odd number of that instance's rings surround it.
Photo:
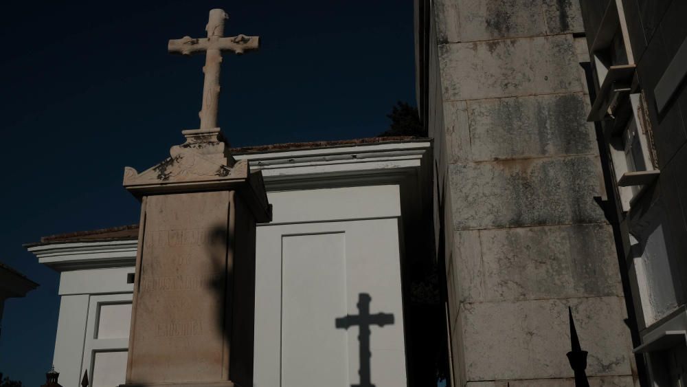
<path fill-rule="evenodd" d="M 252 386 L 256 223 L 271 208 L 219 129 L 183 133 L 124 175 L 142 201 L 125 386 Z"/>

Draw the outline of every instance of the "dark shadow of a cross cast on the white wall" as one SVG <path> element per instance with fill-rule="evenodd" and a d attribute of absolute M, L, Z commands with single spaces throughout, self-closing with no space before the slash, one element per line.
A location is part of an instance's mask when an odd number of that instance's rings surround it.
<path fill-rule="evenodd" d="M 394 324 L 394 315 L 391 313 L 370 314 L 370 300 L 372 300 L 372 297 L 369 294 L 358 294 L 358 315 L 351 316 L 347 314 L 346 317 L 335 320 L 336 327 L 339 329 L 348 329 L 353 325 L 359 326 L 360 368 L 358 374 L 360 375 L 360 384 L 354 384 L 352 387 L 374 387 L 372 377 L 370 376 L 370 357 L 372 357 L 372 352 L 370 352 L 370 326 L 379 325 L 379 327 L 383 327 L 386 324 Z"/>

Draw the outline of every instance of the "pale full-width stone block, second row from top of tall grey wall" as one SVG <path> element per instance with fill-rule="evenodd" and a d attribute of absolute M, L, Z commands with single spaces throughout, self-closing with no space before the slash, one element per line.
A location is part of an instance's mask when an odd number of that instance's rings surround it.
<path fill-rule="evenodd" d="M 444 44 L 439 60 L 444 102 L 583 90 L 570 35 Z"/>

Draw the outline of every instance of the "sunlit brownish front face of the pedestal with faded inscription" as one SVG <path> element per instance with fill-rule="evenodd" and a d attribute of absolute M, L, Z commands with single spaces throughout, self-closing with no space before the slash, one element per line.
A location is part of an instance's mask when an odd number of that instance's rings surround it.
<path fill-rule="evenodd" d="M 145 211 L 130 379 L 221 380 L 229 191 L 152 195 Z"/>

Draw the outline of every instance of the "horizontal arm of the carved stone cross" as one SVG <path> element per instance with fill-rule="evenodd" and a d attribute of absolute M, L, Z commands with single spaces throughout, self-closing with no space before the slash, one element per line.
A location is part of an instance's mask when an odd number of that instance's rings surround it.
<path fill-rule="evenodd" d="M 192 38 L 184 36 L 181 39 L 171 39 L 167 45 L 167 51 L 172 54 L 199 54 L 208 49 L 219 49 L 221 51 L 231 51 L 235 54 L 243 54 L 260 47 L 260 36 L 231 36 L 227 38 Z"/>

